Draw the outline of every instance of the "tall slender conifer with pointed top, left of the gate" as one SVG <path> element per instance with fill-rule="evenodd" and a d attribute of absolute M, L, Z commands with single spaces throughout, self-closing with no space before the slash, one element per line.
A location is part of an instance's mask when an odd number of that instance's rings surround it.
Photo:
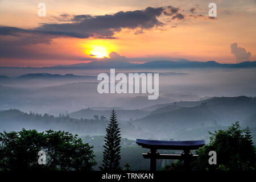
<path fill-rule="evenodd" d="M 119 167 L 120 155 L 120 131 L 119 131 L 117 116 L 114 109 L 110 115 L 110 123 L 106 128 L 105 145 L 103 152 L 103 164 L 100 167 L 102 171 L 118 171 L 121 170 Z"/>

